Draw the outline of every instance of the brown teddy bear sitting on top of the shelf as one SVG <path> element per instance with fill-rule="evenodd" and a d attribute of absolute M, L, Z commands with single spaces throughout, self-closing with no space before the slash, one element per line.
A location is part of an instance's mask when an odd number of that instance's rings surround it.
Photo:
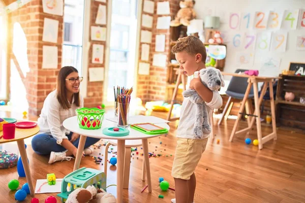
<path fill-rule="evenodd" d="M 194 11 L 194 0 L 184 0 L 180 1 L 180 10 L 174 20 L 170 22 L 170 26 L 177 27 L 179 25 L 189 26 L 190 21 L 196 18 L 196 13 Z"/>

